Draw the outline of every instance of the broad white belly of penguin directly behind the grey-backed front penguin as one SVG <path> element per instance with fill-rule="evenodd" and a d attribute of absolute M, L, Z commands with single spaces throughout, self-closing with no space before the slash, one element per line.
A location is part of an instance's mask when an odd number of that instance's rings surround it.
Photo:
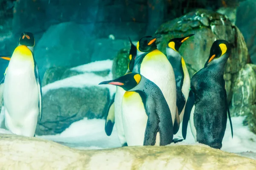
<path fill-rule="evenodd" d="M 142 62 L 140 74 L 154 82 L 162 91 L 172 114 L 172 123 L 176 114 L 176 82 L 172 65 L 166 57 Z"/>

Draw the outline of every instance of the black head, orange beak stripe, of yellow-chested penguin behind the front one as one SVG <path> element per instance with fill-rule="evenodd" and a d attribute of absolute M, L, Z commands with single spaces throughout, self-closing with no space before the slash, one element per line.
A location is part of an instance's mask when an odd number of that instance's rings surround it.
<path fill-rule="evenodd" d="M 156 40 L 161 36 L 145 36 L 137 42 L 137 50 L 141 52 L 150 52 L 157 49 Z"/>

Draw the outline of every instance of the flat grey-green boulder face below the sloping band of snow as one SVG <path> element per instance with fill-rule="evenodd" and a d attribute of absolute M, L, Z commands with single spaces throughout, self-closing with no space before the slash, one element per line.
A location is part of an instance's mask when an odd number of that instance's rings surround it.
<path fill-rule="evenodd" d="M 108 88 L 90 86 L 49 90 L 43 95 L 43 116 L 35 133 L 52 135 L 61 133 L 84 117 L 103 118 L 109 101 Z"/>

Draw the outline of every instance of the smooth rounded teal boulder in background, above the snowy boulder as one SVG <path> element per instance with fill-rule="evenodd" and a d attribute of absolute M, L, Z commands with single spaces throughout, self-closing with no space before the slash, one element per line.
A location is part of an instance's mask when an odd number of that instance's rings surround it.
<path fill-rule="evenodd" d="M 76 23 L 61 23 L 51 26 L 35 47 L 40 78 L 53 66 L 74 67 L 90 62 L 90 38 L 83 26 Z"/>

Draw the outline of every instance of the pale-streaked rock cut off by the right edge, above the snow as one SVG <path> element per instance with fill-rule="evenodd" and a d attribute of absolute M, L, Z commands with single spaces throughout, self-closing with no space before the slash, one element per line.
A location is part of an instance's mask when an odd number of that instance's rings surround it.
<path fill-rule="evenodd" d="M 253 68 L 256 69 L 256 65 L 245 65 L 233 84 L 231 113 L 234 116 L 252 116 L 256 113 L 256 72 Z M 256 121 L 256 117 L 254 119 Z"/>

